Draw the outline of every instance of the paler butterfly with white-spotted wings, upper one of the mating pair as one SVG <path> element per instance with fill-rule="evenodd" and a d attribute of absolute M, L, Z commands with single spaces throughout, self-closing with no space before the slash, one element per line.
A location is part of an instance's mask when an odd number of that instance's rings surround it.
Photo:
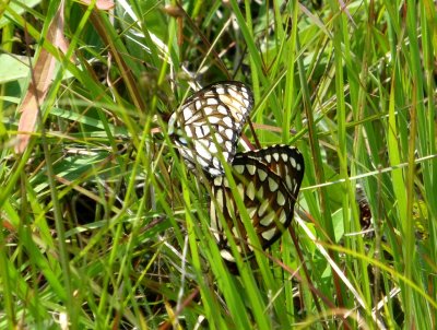
<path fill-rule="evenodd" d="M 251 91 L 236 81 L 214 83 L 188 97 L 168 123 L 189 168 L 198 164 L 211 177 L 223 175 L 218 153 L 232 163 L 252 107 Z"/>

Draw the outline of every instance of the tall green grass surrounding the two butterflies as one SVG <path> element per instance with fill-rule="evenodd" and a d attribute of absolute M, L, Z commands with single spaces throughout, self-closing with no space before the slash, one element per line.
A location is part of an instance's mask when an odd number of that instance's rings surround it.
<path fill-rule="evenodd" d="M 75 63 L 44 43 L 58 1 L 0 8 L 0 327 L 435 328 L 434 1 L 182 5 L 68 1 Z M 43 47 L 58 59 L 45 131 L 17 155 Z M 295 239 L 239 275 L 166 134 L 189 85 L 228 79 L 253 90 L 260 144 L 306 161 Z"/>

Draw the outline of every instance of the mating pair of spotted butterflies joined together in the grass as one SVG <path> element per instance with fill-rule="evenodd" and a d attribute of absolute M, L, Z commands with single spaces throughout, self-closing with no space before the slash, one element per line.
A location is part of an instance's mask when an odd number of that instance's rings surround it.
<path fill-rule="evenodd" d="M 261 247 L 268 248 L 293 220 L 304 176 L 304 158 L 293 146 L 236 152 L 252 107 L 253 96 L 245 84 L 221 82 L 191 95 L 169 120 L 169 133 L 188 167 L 200 167 L 211 178 L 211 229 L 228 261 L 234 257 L 223 224 L 239 252 L 249 255 L 253 249 L 244 219 L 251 221 Z M 236 190 L 224 173 L 223 161 L 232 166 Z M 236 195 L 247 214 L 238 209 Z"/>

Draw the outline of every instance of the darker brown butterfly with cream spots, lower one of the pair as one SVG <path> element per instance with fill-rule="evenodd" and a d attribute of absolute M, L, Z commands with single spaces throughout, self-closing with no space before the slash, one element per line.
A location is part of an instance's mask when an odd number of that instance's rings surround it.
<path fill-rule="evenodd" d="M 304 158 L 299 151 L 276 145 L 247 153 L 238 153 L 232 164 L 236 191 L 232 191 L 226 176 L 212 184 L 211 229 L 222 257 L 234 261 L 221 214 L 234 236 L 239 252 L 250 255 L 250 243 L 235 201 L 239 195 L 251 225 L 263 249 L 272 245 L 293 220 L 294 204 L 304 177 Z"/>

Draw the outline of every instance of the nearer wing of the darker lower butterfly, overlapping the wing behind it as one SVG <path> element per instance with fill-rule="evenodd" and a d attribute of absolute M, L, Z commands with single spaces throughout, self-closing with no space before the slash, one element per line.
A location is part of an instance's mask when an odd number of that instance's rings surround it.
<path fill-rule="evenodd" d="M 291 160 L 288 160 L 291 162 Z M 288 227 L 293 219 L 295 198 L 284 185 L 284 179 L 256 157 L 237 154 L 233 163 L 236 190 L 225 176 L 215 178 L 212 187 L 211 229 L 222 257 L 234 261 L 223 220 L 229 228 L 239 252 L 250 255 L 253 249 L 235 196 L 241 199 L 248 217 L 263 249 L 272 245 Z M 302 174 L 300 174 L 302 175 Z M 296 182 L 300 185 L 302 178 Z M 298 190 L 298 187 L 296 188 Z M 221 220 L 221 214 L 223 219 Z"/>

